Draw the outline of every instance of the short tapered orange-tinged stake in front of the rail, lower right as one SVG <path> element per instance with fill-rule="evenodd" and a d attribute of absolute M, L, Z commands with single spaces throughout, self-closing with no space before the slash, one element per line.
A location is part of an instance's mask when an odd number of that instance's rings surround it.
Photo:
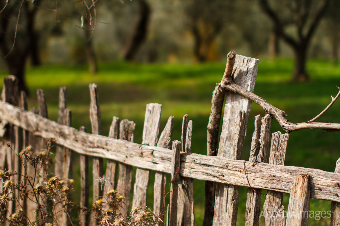
<path fill-rule="evenodd" d="M 309 199 L 309 175 L 300 173 L 290 193 L 286 226 L 308 226 Z"/>

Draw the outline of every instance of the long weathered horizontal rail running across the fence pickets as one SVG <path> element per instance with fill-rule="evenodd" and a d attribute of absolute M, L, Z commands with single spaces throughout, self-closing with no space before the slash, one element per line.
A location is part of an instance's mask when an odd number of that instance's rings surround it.
<path fill-rule="evenodd" d="M 132 166 L 171 173 L 171 150 L 91 135 L 61 125 L 47 118 L 0 101 L 0 118 L 32 132 L 53 138 L 57 144 L 83 155 L 107 158 Z M 119 152 L 115 151 L 119 150 Z M 143 155 L 143 157 L 141 157 Z M 340 202 L 340 174 L 296 166 L 252 163 L 223 157 L 181 153 L 181 176 L 249 187 L 244 165 L 252 188 L 290 193 L 297 174 L 309 174 L 310 198 Z M 228 175 L 228 176 L 225 176 Z"/>

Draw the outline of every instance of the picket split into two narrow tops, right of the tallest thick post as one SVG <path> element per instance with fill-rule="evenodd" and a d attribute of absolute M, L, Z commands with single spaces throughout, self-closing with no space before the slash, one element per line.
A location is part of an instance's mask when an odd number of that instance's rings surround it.
<path fill-rule="evenodd" d="M 267 162 L 270 146 L 270 115 L 260 119 L 255 117 L 255 130 L 252 137 L 249 162 L 255 166 L 256 162 Z M 254 167 L 253 166 L 253 167 Z M 248 188 L 245 204 L 245 225 L 258 226 L 261 211 L 261 189 Z"/>

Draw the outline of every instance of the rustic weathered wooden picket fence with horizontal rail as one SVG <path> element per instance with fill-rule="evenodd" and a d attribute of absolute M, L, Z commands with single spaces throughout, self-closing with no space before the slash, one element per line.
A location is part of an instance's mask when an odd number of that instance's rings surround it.
<path fill-rule="evenodd" d="M 253 91 L 258 60 L 236 56 L 234 81 Z M 113 117 L 108 137 L 102 136 L 100 106 L 97 85 L 90 84 L 90 120 L 92 134 L 72 128 L 71 112 L 66 106 L 66 88 L 60 88 L 58 122 L 48 119 L 44 91 L 38 90 L 38 109 L 27 111 L 26 96 L 19 95 L 17 79 L 4 78 L 0 102 L 0 135 L 2 142 L 12 141 L 16 153 L 28 145 L 39 150 L 45 139 L 58 144 L 54 172 L 68 179 L 72 172 L 72 152 L 80 154 L 81 206 L 89 206 L 88 157 L 93 157 L 93 199 L 103 196 L 103 191 L 116 188 L 125 197 L 121 211 L 146 206 L 150 170 L 155 170 L 154 206 L 156 215 L 165 212 L 166 174 L 171 174 L 170 206 L 167 225 L 194 225 L 192 180 L 207 181 L 204 225 L 236 225 L 238 209 L 238 186 L 248 187 L 246 201 L 246 225 L 258 225 L 261 189 L 268 190 L 263 206 L 266 225 L 307 225 L 309 199 L 332 201 L 331 225 L 340 222 L 340 161 L 335 172 L 295 166 L 285 166 L 285 153 L 289 135 L 281 132 L 270 134 L 271 117 L 255 117 L 249 161 L 240 160 L 251 101 L 234 93 L 223 92 L 216 85 L 213 93 L 211 115 L 208 125 L 207 156 L 191 152 L 192 121 L 183 117 L 182 140 L 171 141 L 173 117 L 159 135 L 160 104 L 148 104 L 143 127 L 142 144 L 134 143 L 135 124 L 129 120 Z M 21 107 L 18 107 L 19 102 Z M 223 103 L 225 102 L 222 132 L 218 134 Z M 217 133 L 216 133 L 217 131 Z M 214 133 L 215 132 L 215 133 Z M 218 143 L 218 138 L 220 141 Z M 193 150 L 194 151 L 194 150 Z M 104 173 L 103 159 L 107 159 Z M 267 163 L 269 160 L 269 163 Z M 6 146 L 1 148 L 1 167 L 20 172 L 16 155 Z M 132 187 L 132 167 L 137 167 Z M 117 170 L 119 168 L 119 170 Z M 119 172 L 118 172 L 119 171 Z M 99 179 L 105 175 L 104 187 Z M 116 178 L 118 177 L 118 178 Z M 116 181 L 117 184 L 115 183 Z M 168 181 L 169 183 L 169 181 Z M 133 195 L 130 197 L 131 189 Z M 149 188 L 150 189 L 150 188 Z M 290 193 L 288 217 L 285 219 L 282 205 L 283 193 Z M 13 194 L 18 195 L 18 194 Z M 15 203 L 10 210 L 15 209 Z M 28 200 L 27 215 L 35 219 L 36 206 Z M 58 225 L 67 225 L 67 215 L 55 211 Z M 80 213 L 81 225 L 97 225 L 94 216 Z"/>

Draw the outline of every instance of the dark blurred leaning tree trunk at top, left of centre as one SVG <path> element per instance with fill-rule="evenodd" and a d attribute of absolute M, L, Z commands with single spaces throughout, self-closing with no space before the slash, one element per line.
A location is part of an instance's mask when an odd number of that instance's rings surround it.
<path fill-rule="evenodd" d="M 147 36 L 149 17 L 150 17 L 150 6 L 146 0 L 138 0 L 139 3 L 139 14 L 136 20 L 135 27 L 126 43 L 124 51 L 124 59 L 127 61 L 133 61 L 136 53 L 140 48 L 143 41 Z"/>

